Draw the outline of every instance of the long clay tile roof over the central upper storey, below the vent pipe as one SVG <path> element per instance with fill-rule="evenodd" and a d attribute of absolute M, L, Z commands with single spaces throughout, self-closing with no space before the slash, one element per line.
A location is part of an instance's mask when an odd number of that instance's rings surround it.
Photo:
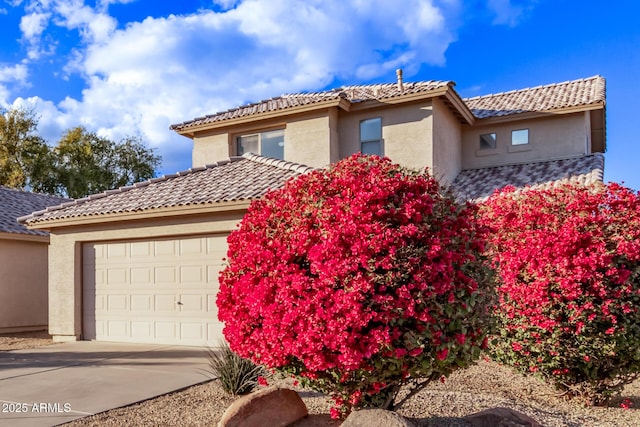
<path fill-rule="evenodd" d="M 452 87 L 453 85 L 454 83 L 450 81 L 432 80 L 425 82 L 404 83 L 402 91 L 400 91 L 396 83 L 389 83 L 345 86 L 338 89 L 321 92 L 286 94 L 277 98 L 267 99 L 208 116 L 198 117 L 183 123 L 174 124 L 171 125 L 171 129 L 181 131 L 195 126 L 231 120 L 239 117 L 254 116 L 278 110 L 286 110 L 288 108 L 294 108 L 302 105 L 315 104 L 331 100 L 339 101 L 340 99 L 345 99 L 352 103 L 370 100 L 385 100 L 400 95 L 434 91 L 445 87 Z"/>

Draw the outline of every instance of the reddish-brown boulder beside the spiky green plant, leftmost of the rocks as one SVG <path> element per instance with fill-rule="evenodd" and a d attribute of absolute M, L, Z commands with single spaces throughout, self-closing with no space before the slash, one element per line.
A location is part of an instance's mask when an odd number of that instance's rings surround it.
<path fill-rule="evenodd" d="M 294 390 L 269 387 L 233 402 L 218 427 L 285 427 L 307 414 L 306 405 Z"/>

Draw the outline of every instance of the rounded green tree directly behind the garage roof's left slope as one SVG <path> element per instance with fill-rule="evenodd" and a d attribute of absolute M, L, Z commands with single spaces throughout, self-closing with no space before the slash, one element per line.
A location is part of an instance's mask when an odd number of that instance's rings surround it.
<path fill-rule="evenodd" d="M 54 157 L 61 192 L 72 198 L 153 178 L 160 164 L 160 156 L 137 137 L 115 143 L 84 127 L 68 130 Z"/>

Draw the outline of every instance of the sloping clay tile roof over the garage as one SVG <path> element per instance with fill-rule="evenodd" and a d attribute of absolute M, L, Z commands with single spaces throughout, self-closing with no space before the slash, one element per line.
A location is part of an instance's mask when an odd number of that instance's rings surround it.
<path fill-rule="evenodd" d="M 255 154 L 139 182 L 20 218 L 26 224 L 260 198 L 313 168 Z"/>

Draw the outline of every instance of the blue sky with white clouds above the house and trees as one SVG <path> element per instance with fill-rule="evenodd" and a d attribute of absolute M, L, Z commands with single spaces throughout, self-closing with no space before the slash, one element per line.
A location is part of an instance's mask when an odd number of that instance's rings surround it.
<path fill-rule="evenodd" d="M 0 0 L 0 106 L 55 143 L 142 137 L 188 169 L 172 123 L 283 93 L 453 80 L 463 97 L 607 79 L 605 180 L 640 189 L 640 2 Z"/>

